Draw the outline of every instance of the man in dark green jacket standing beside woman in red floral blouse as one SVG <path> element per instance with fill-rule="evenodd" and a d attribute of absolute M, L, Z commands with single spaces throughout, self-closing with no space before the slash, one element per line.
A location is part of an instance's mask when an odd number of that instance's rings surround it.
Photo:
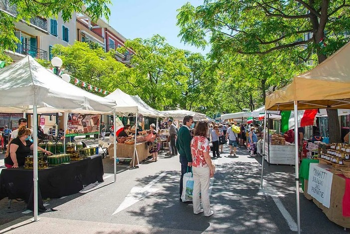
<path fill-rule="evenodd" d="M 183 126 L 177 132 L 176 148 L 180 154 L 180 164 L 181 164 L 181 178 L 180 178 L 180 200 L 182 194 L 182 182 L 183 174 L 190 171 L 192 167 L 192 155 L 191 155 L 191 134 L 189 129 L 193 123 L 193 117 L 186 115 L 183 118 Z"/>

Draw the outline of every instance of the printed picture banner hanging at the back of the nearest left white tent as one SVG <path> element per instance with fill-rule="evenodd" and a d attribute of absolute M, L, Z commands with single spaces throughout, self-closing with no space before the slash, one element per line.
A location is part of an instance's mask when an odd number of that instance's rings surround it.
<path fill-rule="evenodd" d="M 66 137 L 99 134 L 101 115 L 68 114 Z"/>

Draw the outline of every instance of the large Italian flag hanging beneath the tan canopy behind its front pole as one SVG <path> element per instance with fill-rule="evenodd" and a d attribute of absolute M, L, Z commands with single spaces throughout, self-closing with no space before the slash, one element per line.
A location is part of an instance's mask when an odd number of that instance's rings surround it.
<path fill-rule="evenodd" d="M 314 120 L 318 110 L 298 110 L 298 128 L 309 125 L 314 125 Z M 294 111 L 282 111 L 281 112 L 281 130 L 287 132 L 294 129 Z"/>

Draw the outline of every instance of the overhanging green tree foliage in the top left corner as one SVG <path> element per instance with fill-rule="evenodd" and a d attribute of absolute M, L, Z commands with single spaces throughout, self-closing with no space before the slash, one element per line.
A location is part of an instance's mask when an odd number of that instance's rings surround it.
<path fill-rule="evenodd" d="M 14 22 L 29 19 L 35 16 L 52 17 L 62 13 L 64 21 L 69 21 L 72 12 L 85 12 L 91 19 L 100 17 L 109 18 L 110 9 L 108 5 L 111 0 L 7 0 L 9 5 L 15 5 L 17 15 L 15 18 L 0 11 L 0 51 L 4 49 L 15 49 L 18 39 L 14 36 Z"/>

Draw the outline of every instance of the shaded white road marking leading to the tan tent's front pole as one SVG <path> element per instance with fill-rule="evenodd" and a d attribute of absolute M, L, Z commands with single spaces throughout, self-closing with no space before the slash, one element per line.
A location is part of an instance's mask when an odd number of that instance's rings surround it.
<path fill-rule="evenodd" d="M 276 189 L 270 186 L 266 181 L 264 181 L 264 184 L 265 184 L 264 189 L 260 189 L 260 192 L 258 193 L 258 195 L 270 196 L 272 200 L 275 202 L 278 210 L 280 210 L 282 216 L 286 220 L 290 230 L 293 232 L 297 232 L 298 225 L 295 223 L 294 219 L 292 218 L 292 216 L 289 214 L 289 212 L 286 210 L 281 200 L 279 199 L 279 197 L 282 197 L 284 195 L 279 193 Z"/>

